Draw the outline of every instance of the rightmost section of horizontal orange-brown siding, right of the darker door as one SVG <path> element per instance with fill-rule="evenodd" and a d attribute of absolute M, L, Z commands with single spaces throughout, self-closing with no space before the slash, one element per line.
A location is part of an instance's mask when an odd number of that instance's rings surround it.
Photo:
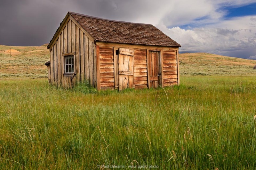
<path fill-rule="evenodd" d="M 178 85 L 177 50 L 163 51 L 164 87 Z"/>

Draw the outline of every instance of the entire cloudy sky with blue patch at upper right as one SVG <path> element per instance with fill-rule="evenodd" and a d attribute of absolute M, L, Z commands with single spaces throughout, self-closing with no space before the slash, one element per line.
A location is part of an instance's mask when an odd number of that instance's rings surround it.
<path fill-rule="evenodd" d="M 152 24 L 180 53 L 256 60 L 256 0 L 1 0 L 0 44 L 49 43 L 68 11 Z"/>

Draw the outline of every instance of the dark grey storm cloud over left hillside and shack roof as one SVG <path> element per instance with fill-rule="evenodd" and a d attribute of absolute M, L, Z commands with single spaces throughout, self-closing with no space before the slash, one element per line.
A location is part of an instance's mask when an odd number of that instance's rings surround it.
<path fill-rule="evenodd" d="M 135 0 L 4 1 L 0 6 L 0 44 L 39 46 L 49 43 L 68 11 L 100 18 L 133 21 L 139 15 L 139 12 L 131 12 L 135 2 Z M 142 1 L 136 4 L 137 8 L 143 5 Z"/>

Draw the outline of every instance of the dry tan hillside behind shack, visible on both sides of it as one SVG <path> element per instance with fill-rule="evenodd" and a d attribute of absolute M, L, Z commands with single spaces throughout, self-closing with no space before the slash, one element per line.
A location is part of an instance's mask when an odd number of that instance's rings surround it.
<path fill-rule="evenodd" d="M 0 45 L 0 78 L 47 77 L 47 44 L 39 47 Z M 10 56 L 11 52 L 11 56 Z M 180 75 L 254 75 L 256 60 L 208 53 L 180 54 Z"/>

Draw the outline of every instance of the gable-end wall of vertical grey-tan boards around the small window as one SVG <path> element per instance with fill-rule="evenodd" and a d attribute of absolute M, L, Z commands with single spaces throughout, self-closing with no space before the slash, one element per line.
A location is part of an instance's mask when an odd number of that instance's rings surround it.
<path fill-rule="evenodd" d="M 51 83 L 72 87 L 76 81 L 88 81 L 96 87 L 96 45 L 71 19 L 60 32 L 57 41 L 50 50 Z M 75 53 L 75 75 L 64 75 L 64 56 Z"/>

